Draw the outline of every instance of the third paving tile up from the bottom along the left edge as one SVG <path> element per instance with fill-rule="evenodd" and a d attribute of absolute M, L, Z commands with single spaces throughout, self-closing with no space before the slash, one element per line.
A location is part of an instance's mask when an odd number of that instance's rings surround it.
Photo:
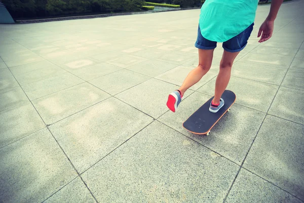
<path fill-rule="evenodd" d="M 28 101 L 21 87 L 0 91 L 0 111 L 19 106 Z"/>

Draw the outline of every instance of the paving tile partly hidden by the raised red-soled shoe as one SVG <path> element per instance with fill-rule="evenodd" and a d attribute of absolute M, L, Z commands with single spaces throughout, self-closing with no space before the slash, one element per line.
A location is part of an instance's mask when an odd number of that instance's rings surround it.
<path fill-rule="evenodd" d="M 166 105 L 168 95 L 178 88 L 178 86 L 173 84 L 150 79 L 118 94 L 117 97 L 149 116 L 158 118 L 169 110 Z M 191 93 L 193 91 L 188 90 L 183 98 Z"/>

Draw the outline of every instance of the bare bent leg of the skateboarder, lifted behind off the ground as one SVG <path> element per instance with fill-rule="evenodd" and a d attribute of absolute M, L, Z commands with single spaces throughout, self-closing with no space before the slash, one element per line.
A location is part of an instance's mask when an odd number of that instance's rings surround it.
<path fill-rule="evenodd" d="M 188 88 L 199 82 L 202 77 L 209 71 L 212 63 L 213 51 L 214 49 L 199 49 L 199 65 L 188 74 L 183 84 L 178 89 L 181 93 L 181 96 L 184 95 L 185 91 Z"/>

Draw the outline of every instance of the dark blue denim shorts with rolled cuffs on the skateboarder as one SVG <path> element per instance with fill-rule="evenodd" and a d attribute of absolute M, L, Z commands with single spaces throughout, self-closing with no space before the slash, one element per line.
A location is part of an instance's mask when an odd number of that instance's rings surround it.
<path fill-rule="evenodd" d="M 239 33 L 239 35 L 223 42 L 223 48 L 227 52 L 238 52 L 242 51 L 247 45 L 247 41 L 251 35 L 254 23 L 247 27 L 244 31 Z M 198 30 L 198 39 L 195 43 L 195 47 L 198 49 L 215 49 L 217 42 L 207 40 L 202 36 L 200 25 Z"/>

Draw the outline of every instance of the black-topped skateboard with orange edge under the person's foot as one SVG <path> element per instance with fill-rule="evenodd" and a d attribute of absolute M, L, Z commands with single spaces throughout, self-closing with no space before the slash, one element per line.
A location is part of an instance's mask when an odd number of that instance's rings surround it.
<path fill-rule="evenodd" d="M 212 96 L 206 103 L 194 112 L 182 126 L 194 134 L 210 134 L 211 128 L 220 120 L 220 118 L 230 111 L 231 106 L 236 101 L 236 94 L 233 91 L 225 90 L 221 98 L 224 99 L 224 106 L 217 113 L 209 111 Z"/>

